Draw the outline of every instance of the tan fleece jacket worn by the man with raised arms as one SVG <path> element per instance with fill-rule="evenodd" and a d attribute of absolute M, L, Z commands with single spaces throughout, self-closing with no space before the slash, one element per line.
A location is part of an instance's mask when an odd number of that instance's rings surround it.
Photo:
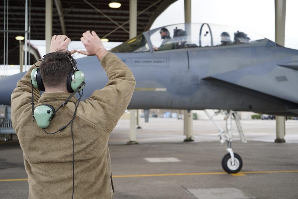
<path fill-rule="evenodd" d="M 80 102 L 73 123 L 76 199 L 114 197 L 107 143 L 135 87 L 133 73 L 114 54 L 106 54 L 101 64 L 109 81 L 103 89 L 95 90 L 88 99 Z M 70 125 L 48 135 L 33 122 L 30 74 L 34 68 L 32 66 L 18 81 L 11 94 L 11 120 L 24 152 L 29 199 L 71 198 L 73 151 Z M 45 92 L 40 97 L 39 93 L 40 90 L 34 88 L 35 106 L 50 104 L 55 109 L 70 95 Z M 75 101 L 73 97 L 56 113 L 47 132 L 55 132 L 71 120 Z"/>

